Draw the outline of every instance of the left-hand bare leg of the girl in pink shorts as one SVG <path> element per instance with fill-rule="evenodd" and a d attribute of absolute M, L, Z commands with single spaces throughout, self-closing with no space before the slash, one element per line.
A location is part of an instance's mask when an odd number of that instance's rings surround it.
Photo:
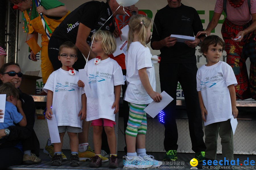
<path fill-rule="evenodd" d="M 93 145 L 94 145 L 94 151 L 96 155 L 100 154 L 101 151 L 101 144 L 102 144 L 102 130 L 103 126 L 93 126 Z"/>

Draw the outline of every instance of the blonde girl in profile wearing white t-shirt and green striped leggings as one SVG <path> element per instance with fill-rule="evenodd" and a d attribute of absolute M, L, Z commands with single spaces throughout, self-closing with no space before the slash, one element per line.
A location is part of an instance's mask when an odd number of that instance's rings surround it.
<path fill-rule="evenodd" d="M 162 162 L 146 154 L 146 113 L 143 109 L 162 96 L 155 92 L 156 80 L 152 55 L 146 46 L 150 38 L 152 21 L 144 15 L 134 15 L 129 21 L 128 46 L 125 56 L 127 89 L 124 100 L 129 103 L 129 120 L 125 131 L 127 156 L 124 163 L 129 168 L 159 167 Z M 137 146 L 137 153 L 135 150 Z"/>

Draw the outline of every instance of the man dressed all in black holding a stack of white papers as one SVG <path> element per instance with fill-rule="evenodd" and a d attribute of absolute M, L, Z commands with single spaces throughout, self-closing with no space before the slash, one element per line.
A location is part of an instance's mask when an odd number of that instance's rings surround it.
<path fill-rule="evenodd" d="M 198 31 L 203 30 L 203 25 L 194 8 L 181 4 L 181 0 L 167 1 L 168 5 L 156 13 L 151 39 L 152 49 L 161 52 L 159 65 L 161 91 L 165 91 L 174 98 L 164 109 L 164 148 L 167 152 L 164 161 L 177 160 L 178 131 L 175 108 L 179 81 L 185 96 L 192 150 L 196 152 L 195 158 L 198 162 L 202 162 L 206 147 L 203 141 L 201 110 L 196 90 L 195 47 L 201 44 L 205 36 L 183 43 L 177 42 L 175 38 L 170 38 L 170 35 L 194 37 Z"/>

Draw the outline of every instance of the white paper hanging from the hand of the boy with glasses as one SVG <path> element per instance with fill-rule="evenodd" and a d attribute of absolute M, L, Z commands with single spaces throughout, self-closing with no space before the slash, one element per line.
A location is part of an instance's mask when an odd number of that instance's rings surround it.
<path fill-rule="evenodd" d="M 51 120 L 47 119 L 51 143 L 60 143 L 57 120 L 54 114 L 51 116 L 52 116 Z"/>

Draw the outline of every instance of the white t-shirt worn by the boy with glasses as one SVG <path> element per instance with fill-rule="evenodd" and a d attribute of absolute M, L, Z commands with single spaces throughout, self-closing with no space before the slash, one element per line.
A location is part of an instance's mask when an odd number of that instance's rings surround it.
<path fill-rule="evenodd" d="M 58 126 L 72 126 L 82 128 L 81 96 L 84 89 L 77 86 L 79 72 L 70 75 L 68 71 L 58 69 L 51 73 L 43 90 L 53 92 L 52 113 L 55 114 Z"/>

